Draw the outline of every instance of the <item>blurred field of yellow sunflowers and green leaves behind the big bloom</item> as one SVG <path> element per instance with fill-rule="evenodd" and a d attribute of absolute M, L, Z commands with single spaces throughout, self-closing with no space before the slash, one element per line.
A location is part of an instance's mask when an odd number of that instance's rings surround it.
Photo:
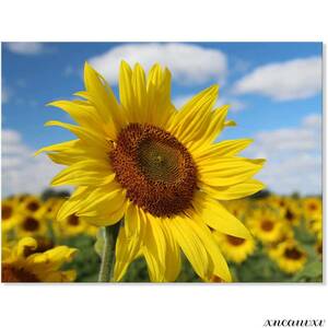
<path fill-rule="evenodd" d="M 251 239 L 213 231 L 233 282 L 321 282 L 321 198 L 265 195 L 224 206 L 251 232 Z M 103 231 L 72 214 L 56 214 L 68 195 L 14 195 L 2 200 L 3 282 L 96 282 Z M 138 256 L 122 282 L 149 282 Z M 183 258 L 177 282 L 202 282 Z M 222 282 L 212 277 L 211 282 Z"/>

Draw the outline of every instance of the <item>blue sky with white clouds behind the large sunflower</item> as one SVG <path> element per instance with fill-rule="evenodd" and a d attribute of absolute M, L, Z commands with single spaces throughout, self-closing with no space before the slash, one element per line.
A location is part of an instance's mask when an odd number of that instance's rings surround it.
<path fill-rule="evenodd" d="M 232 104 L 230 118 L 237 121 L 222 138 L 255 139 L 245 154 L 268 159 L 259 177 L 270 189 L 320 192 L 319 43 L 11 43 L 2 44 L 4 195 L 44 188 L 58 168 L 43 157 L 31 159 L 30 151 L 72 139 L 59 128 L 44 127 L 50 119 L 68 120 L 66 114 L 45 104 L 72 98 L 83 90 L 85 60 L 117 93 L 121 59 L 140 61 L 147 68 L 154 61 L 166 65 L 173 73 L 172 97 L 177 106 L 219 82 L 222 102 Z M 36 177 L 36 167 L 43 176 Z"/>

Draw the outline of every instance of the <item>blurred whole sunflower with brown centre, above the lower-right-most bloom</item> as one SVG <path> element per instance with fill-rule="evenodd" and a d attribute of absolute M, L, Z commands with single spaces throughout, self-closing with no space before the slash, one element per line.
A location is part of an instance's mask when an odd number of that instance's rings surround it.
<path fill-rule="evenodd" d="M 247 226 L 262 243 L 279 242 L 286 230 L 284 222 L 269 208 L 259 208 L 248 216 Z"/>

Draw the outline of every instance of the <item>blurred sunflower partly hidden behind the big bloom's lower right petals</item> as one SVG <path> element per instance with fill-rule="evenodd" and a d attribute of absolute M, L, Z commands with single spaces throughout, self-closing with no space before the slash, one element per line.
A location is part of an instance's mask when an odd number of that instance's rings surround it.
<path fill-rule="evenodd" d="M 256 249 L 256 244 L 253 238 L 244 239 L 219 232 L 214 233 L 214 237 L 225 258 L 236 263 L 245 261 Z"/>

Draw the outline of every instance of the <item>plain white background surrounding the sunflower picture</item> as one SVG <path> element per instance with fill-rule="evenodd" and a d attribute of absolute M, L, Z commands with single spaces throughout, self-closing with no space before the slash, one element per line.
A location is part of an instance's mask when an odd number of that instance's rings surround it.
<path fill-rule="evenodd" d="M 325 2 L 2 0 L 0 38 L 327 43 Z M 326 319 L 327 326 L 327 301 L 326 284 L 2 284 L 0 320 L 14 328 L 257 328 L 266 319 Z"/>

